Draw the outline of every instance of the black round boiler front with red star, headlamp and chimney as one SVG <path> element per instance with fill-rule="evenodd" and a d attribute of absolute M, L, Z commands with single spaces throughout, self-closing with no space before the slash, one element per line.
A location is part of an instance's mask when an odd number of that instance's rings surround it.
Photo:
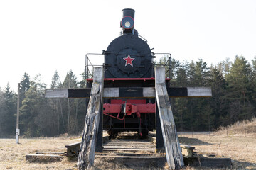
<path fill-rule="evenodd" d="M 128 8 L 122 12 L 122 35 L 114 39 L 105 51 L 105 77 L 153 77 L 151 50 L 134 29 L 135 11 Z"/>

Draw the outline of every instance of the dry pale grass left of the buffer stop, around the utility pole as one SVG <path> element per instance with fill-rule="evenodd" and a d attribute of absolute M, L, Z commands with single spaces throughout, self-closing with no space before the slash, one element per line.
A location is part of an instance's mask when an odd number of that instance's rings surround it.
<path fill-rule="evenodd" d="M 67 158 L 62 162 L 54 163 L 28 163 L 26 154 L 44 152 L 65 152 L 65 145 L 78 141 L 74 137 L 0 139 L 0 169 L 75 169 L 75 163 Z"/>

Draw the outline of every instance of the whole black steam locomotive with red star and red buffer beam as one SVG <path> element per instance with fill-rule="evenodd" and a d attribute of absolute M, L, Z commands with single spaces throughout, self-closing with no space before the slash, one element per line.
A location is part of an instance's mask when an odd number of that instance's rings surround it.
<path fill-rule="evenodd" d="M 105 87 L 154 86 L 154 55 L 146 40 L 140 38 L 134 29 L 134 12 L 131 8 L 122 10 L 121 35 L 110 42 L 107 50 L 103 50 Z M 92 83 L 92 79 L 87 80 Z M 155 99 L 136 98 L 137 92 L 129 92 L 132 99 L 104 99 L 103 129 L 110 137 L 122 131 L 137 131 L 140 137 L 146 137 L 156 128 Z"/>

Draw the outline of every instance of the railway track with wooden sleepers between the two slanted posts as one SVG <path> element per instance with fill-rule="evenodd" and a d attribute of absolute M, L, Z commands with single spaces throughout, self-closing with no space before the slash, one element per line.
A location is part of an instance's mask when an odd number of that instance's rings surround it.
<path fill-rule="evenodd" d="M 166 163 L 166 154 L 156 153 L 156 145 L 147 140 L 114 139 L 103 145 L 103 152 L 95 158 L 107 162 L 122 164 L 129 169 L 162 169 Z"/>

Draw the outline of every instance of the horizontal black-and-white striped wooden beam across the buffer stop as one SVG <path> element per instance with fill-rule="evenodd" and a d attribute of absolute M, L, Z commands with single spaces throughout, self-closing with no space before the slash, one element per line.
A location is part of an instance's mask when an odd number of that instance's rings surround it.
<path fill-rule="evenodd" d="M 90 88 L 46 89 L 46 98 L 89 98 Z M 169 97 L 211 97 L 210 87 L 168 87 Z M 105 88 L 103 98 L 154 98 L 154 87 L 112 87 Z"/>

